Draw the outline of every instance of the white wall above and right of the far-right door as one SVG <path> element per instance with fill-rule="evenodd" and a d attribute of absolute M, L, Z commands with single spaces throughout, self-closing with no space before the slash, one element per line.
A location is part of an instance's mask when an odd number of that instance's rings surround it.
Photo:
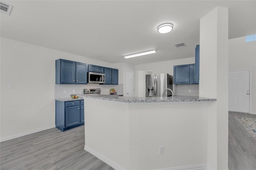
<path fill-rule="evenodd" d="M 250 113 L 256 114 L 256 42 L 245 43 L 240 37 L 228 43 L 228 70 L 250 70 Z"/>

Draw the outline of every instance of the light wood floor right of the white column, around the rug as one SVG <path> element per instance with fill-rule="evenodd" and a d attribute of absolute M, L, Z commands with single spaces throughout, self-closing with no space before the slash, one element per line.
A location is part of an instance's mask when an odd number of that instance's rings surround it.
<path fill-rule="evenodd" d="M 256 115 L 229 112 L 228 114 L 228 170 L 256 170 L 256 140 L 233 117 Z"/>

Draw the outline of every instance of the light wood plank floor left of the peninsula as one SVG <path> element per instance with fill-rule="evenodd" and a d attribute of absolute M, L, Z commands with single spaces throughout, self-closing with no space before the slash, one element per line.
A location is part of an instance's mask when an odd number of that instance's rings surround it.
<path fill-rule="evenodd" d="M 1 170 L 114 170 L 84 150 L 84 126 L 4 141 L 0 149 Z"/>

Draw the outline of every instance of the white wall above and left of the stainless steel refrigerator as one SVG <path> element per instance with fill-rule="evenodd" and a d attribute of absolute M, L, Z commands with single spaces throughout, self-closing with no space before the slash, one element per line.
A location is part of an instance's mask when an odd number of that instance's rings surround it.
<path fill-rule="evenodd" d="M 193 54 L 192 54 L 193 55 Z M 140 96 L 142 92 L 138 90 L 143 88 L 139 86 L 139 76 L 138 71 L 140 70 L 152 70 L 152 74 L 156 73 L 168 73 L 173 75 L 173 66 L 182 65 L 182 64 L 194 64 L 195 57 L 190 57 L 186 59 L 178 59 L 178 60 L 170 60 L 170 61 L 162 61 L 157 63 L 148 63 L 148 64 L 137 64 L 135 65 L 135 96 Z M 175 89 L 174 89 L 175 90 Z"/>

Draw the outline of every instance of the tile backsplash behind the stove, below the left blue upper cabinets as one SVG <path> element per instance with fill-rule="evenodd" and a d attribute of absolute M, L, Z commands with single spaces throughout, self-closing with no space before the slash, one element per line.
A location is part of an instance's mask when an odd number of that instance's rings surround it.
<path fill-rule="evenodd" d="M 115 88 L 118 94 L 123 94 L 123 84 L 55 84 L 54 98 L 68 98 L 70 94 L 84 94 L 85 88 L 100 88 L 100 94 L 109 94 L 109 90 Z"/>

